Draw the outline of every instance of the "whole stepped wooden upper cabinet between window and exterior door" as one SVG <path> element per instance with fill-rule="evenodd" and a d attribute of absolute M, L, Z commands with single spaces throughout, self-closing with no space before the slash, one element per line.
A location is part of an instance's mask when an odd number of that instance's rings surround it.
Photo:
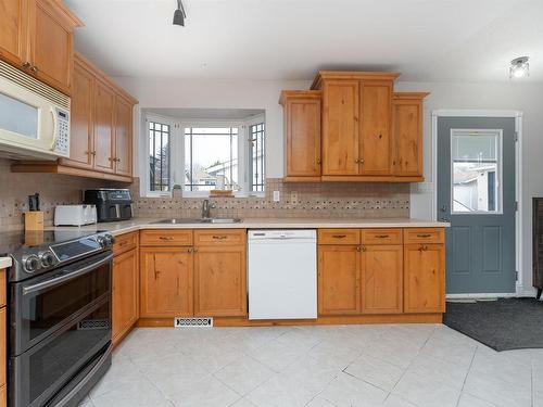
<path fill-rule="evenodd" d="M 295 97 L 307 91 L 283 90 L 285 180 L 422 181 L 422 99 L 428 93 L 394 93 L 399 75 L 319 72 L 312 85 L 313 91 L 321 91 L 319 153 L 314 153 L 315 137 L 307 131 L 314 115 L 310 118 L 306 110 L 294 105 Z M 319 156 L 320 174 L 314 164 Z"/>

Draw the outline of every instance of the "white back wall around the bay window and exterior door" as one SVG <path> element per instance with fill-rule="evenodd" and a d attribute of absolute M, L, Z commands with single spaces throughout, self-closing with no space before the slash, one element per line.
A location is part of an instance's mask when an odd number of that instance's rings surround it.
<path fill-rule="evenodd" d="M 281 89 L 307 89 L 311 80 L 186 80 L 115 78 L 142 107 L 264 109 L 267 126 L 267 177 L 283 174 Z M 412 216 L 430 218 L 431 112 L 438 109 L 519 110 L 523 112 L 523 285 L 531 287 L 531 199 L 543 195 L 543 85 L 397 82 L 396 90 L 429 91 L 425 102 L 425 176 L 412 187 Z M 135 117 L 139 133 L 140 117 Z M 136 155 L 137 156 L 137 155 Z"/>

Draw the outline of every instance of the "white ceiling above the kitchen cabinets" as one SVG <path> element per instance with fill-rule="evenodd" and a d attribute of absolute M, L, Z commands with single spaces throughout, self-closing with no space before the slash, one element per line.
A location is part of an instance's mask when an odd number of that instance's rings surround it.
<path fill-rule="evenodd" d="M 65 0 L 76 49 L 113 76 L 311 79 L 386 69 L 402 80 L 508 81 L 530 56 L 543 81 L 541 0 Z"/>

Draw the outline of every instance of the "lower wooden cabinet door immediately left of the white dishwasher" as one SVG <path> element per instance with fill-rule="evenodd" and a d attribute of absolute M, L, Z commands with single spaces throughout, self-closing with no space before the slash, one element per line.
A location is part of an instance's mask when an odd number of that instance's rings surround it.
<path fill-rule="evenodd" d="M 247 315 L 245 246 L 200 246 L 194 254 L 194 315 Z"/>

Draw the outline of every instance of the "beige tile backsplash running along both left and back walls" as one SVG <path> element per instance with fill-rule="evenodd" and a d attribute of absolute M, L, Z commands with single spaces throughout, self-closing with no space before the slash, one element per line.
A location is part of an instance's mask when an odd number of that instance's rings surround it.
<path fill-rule="evenodd" d="M 58 174 L 15 174 L 11 162 L 0 158 L 0 225 L 5 229 L 23 228 L 27 196 L 39 192 L 46 224 L 53 220 L 54 206 L 81 202 L 81 190 L 123 188 L 123 185 L 99 179 Z M 124 187 L 126 188 L 126 187 Z M 140 198 L 138 179 L 130 187 L 136 217 L 200 217 L 202 198 Z M 279 191 L 280 201 L 273 201 Z M 295 198 L 295 201 L 292 199 Z M 409 216 L 408 183 L 285 183 L 266 180 L 262 198 L 214 198 L 213 216 L 279 218 L 379 218 Z"/>

